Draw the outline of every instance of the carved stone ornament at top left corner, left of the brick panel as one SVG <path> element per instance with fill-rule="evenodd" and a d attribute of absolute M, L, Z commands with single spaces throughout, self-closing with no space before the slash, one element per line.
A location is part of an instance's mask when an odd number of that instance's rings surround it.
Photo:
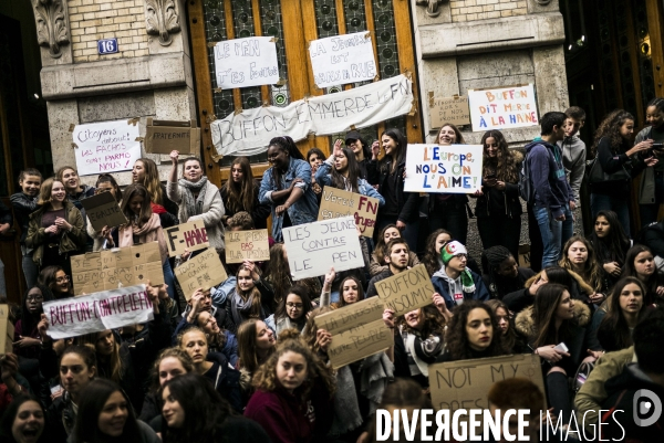
<path fill-rule="evenodd" d="M 60 46 L 70 43 L 64 19 L 63 0 L 31 0 L 37 23 L 37 41 L 53 59 L 62 55 Z"/>

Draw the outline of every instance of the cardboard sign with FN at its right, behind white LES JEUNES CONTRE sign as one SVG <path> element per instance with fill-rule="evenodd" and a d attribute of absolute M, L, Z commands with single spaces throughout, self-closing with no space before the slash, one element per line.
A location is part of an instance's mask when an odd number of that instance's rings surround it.
<path fill-rule="evenodd" d="M 332 187 L 323 188 L 319 220 L 352 215 L 362 235 L 372 238 L 378 214 L 378 199 Z"/>

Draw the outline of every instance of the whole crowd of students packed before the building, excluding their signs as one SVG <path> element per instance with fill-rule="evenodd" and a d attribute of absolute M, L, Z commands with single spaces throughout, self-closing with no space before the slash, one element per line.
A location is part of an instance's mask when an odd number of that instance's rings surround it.
<path fill-rule="evenodd" d="M 587 155 L 578 107 L 543 115 L 542 136 L 525 152 L 509 149 L 500 131 L 487 131 L 481 190 L 470 196 L 404 191 L 407 141 L 398 129 L 372 145 L 350 131 L 328 158 L 320 149 L 304 157 L 290 137 L 276 137 L 260 182 L 249 160 L 237 158 L 221 188 L 199 159 L 180 161 L 177 151 L 166 184 L 156 164 L 141 158 L 133 183 L 122 190 L 111 175 L 93 188 L 72 167 L 43 181 L 27 169 L 11 203 L 28 291 L 13 313 L 14 352 L 0 361 L 0 433 L 8 442 L 370 442 L 377 408 L 430 405 L 429 365 L 510 354 L 539 356 L 546 392 L 507 380 L 488 393 L 494 409 L 540 410 L 546 399 L 569 423 L 591 409 L 596 416 L 600 409 L 625 407 L 642 386 L 660 394 L 664 225 L 632 235 L 625 211 L 631 179 L 644 171 L 655 197 L 642 203 L 642 220 L 656 217 L 651 205 L 661 202 L 664 181 L 652 149 L 664 141 L 663 108 L 661 99 L 649 105 L 652 126 L 633 146 L 634 118 L 625 112 L 612 113 L 598 129 L 593 168 L 604 179 L 590 182 L 589 236 L 573 234 Z M 437 143 L 464 138 L 446 124 Z M 613 180 L 616 170 L 626 176 Z M 375 238 L 360 236 L 363 267 L 293 281 L 282 230 L 317 220 L 325 186 L 378 200 Z M 116 199 L 126 224 L 92 226 L 82 200 L 100 192 Z M 465 246 L 469 198 L 481 267 Z M 519 266 L 523 207 L 530 268 Z M 11 211 L 2 217 L 13 223 Z M 225 232 L 264 229 L 270 217 L 270 260 L 226 264 Z M 229 275 L 191 294 L 183 293 L 174 268 L 195 253 L 169 259 L 163 233 L 187 221 L 205 224 Z M 148 242 L 159 245 L 166 282 L 147 285 L 154 319 L 51 339 L 43 303 L 74 295 L 69 259 Z M 394 346 L 332 370 L 332 336 L 317 326 L 317 316 L 352 309 L 377 295 L 377 282 L 421 263 L 435 288 L 432 304 L 401 316 L 386 308 Z M 632 359 L 639 362 L 626 365 Z M 588 381 L 577 393 L 570 386 L 579 368 Z M 632 426 L 629 436 L 660 441 L 663 424 Z M 613 428 L 603 432 L 616 435 Z"/>

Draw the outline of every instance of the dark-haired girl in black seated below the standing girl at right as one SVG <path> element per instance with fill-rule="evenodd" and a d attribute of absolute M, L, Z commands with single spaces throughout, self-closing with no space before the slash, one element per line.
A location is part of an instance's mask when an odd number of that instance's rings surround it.
<path fill-rule="evenodd" d="M 613 286 L 620 278 L 625 255 L 631 246 L 618 214 L 613 211 L 599 211 L 594 219 L 594 229 L 588 238 L 602 265 L 604 278 Z"/>

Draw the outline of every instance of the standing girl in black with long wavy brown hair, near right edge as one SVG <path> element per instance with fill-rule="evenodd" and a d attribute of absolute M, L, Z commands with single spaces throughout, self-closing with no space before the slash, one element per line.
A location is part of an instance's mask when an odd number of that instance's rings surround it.
<path fill-rule="evenodd" d="M 618 219 L 625 232 L 630 231 L 630 178 L 636 177 L 643 169 L 657 164 L 655 156 L 649 151 L 652 140 L 643 140 L 632 146 L 634 131 L 634 116 L 623 109 L 609 114 L 595 131 L 592 150 L 595 152 L 604 173 L 627 172 L 621 181 L 602 181 L 591 183 L 590 205 L 592 217 L 601 210 L 610 210 L 618 214 Z"/>

